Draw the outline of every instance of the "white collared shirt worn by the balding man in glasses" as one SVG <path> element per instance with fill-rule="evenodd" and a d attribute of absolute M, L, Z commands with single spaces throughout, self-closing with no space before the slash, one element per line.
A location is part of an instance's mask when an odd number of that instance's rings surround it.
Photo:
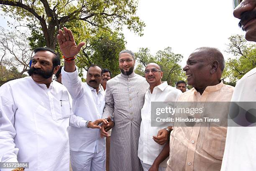
<path fill-rule="evenodd" d="M 159 145 L 152 139 L 153 135 L 156 136 L 158 131 L 165 127 L 151 127 L 151 102 L 176 102 L 181 94 L 179 89 L 169 86 L 167 82 L 154 87 L 152 94 L 148 87 L 145 102 L 141 109 L 142 120 L 138 144 L 138 157 L 143 163 L 152 165 L 164 148 L 164 145 Z M 166 162 L 164 166 L 166 167 Z"/>

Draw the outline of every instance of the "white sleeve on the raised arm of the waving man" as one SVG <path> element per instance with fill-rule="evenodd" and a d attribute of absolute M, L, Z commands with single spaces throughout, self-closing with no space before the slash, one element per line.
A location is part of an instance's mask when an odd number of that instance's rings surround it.
<path fill-rule="evenodd" d="M 67 88 L 73 100 L 78 99 L 82 95 L 83 83 L 78 76 L 77 66 L 74 72 L 66 72 L 64 67 L 62 67 L 61 83 Z"/>

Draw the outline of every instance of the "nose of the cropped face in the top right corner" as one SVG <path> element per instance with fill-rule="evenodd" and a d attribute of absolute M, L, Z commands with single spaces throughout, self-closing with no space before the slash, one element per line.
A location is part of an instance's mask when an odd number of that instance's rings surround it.
<path fill-rule="evenodd" d="M 255 0 L 243 0 L 233 11 L 233 15 L 236 18 L 241 18 L 241 14 L 246 11 L 251 11 L 256 8 Z M 255 9 L 256 10 L 256 9 Z"/>

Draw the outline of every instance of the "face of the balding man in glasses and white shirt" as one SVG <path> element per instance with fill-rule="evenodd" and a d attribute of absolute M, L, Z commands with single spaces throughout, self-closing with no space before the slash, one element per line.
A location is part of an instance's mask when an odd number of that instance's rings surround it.
<path fill-rule="evenodd" d="M 160 67 L 158 64 L 148 64 L 145 68 L 145 71 L 149 71 L 149 73 L 145 73 L 145 78 L 151 87 L 155 87 L 161 84 L 163 72 L 160 71 Z"/>

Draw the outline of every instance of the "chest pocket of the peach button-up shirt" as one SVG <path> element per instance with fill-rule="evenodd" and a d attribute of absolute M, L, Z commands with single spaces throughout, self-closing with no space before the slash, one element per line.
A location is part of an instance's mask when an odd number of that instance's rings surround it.
<path fill-rule="evenodd" d="M 206 128 L 203 150 L 210 156 L 222 160 L 225 150 L 227 128 L 210 127 Z"/>

